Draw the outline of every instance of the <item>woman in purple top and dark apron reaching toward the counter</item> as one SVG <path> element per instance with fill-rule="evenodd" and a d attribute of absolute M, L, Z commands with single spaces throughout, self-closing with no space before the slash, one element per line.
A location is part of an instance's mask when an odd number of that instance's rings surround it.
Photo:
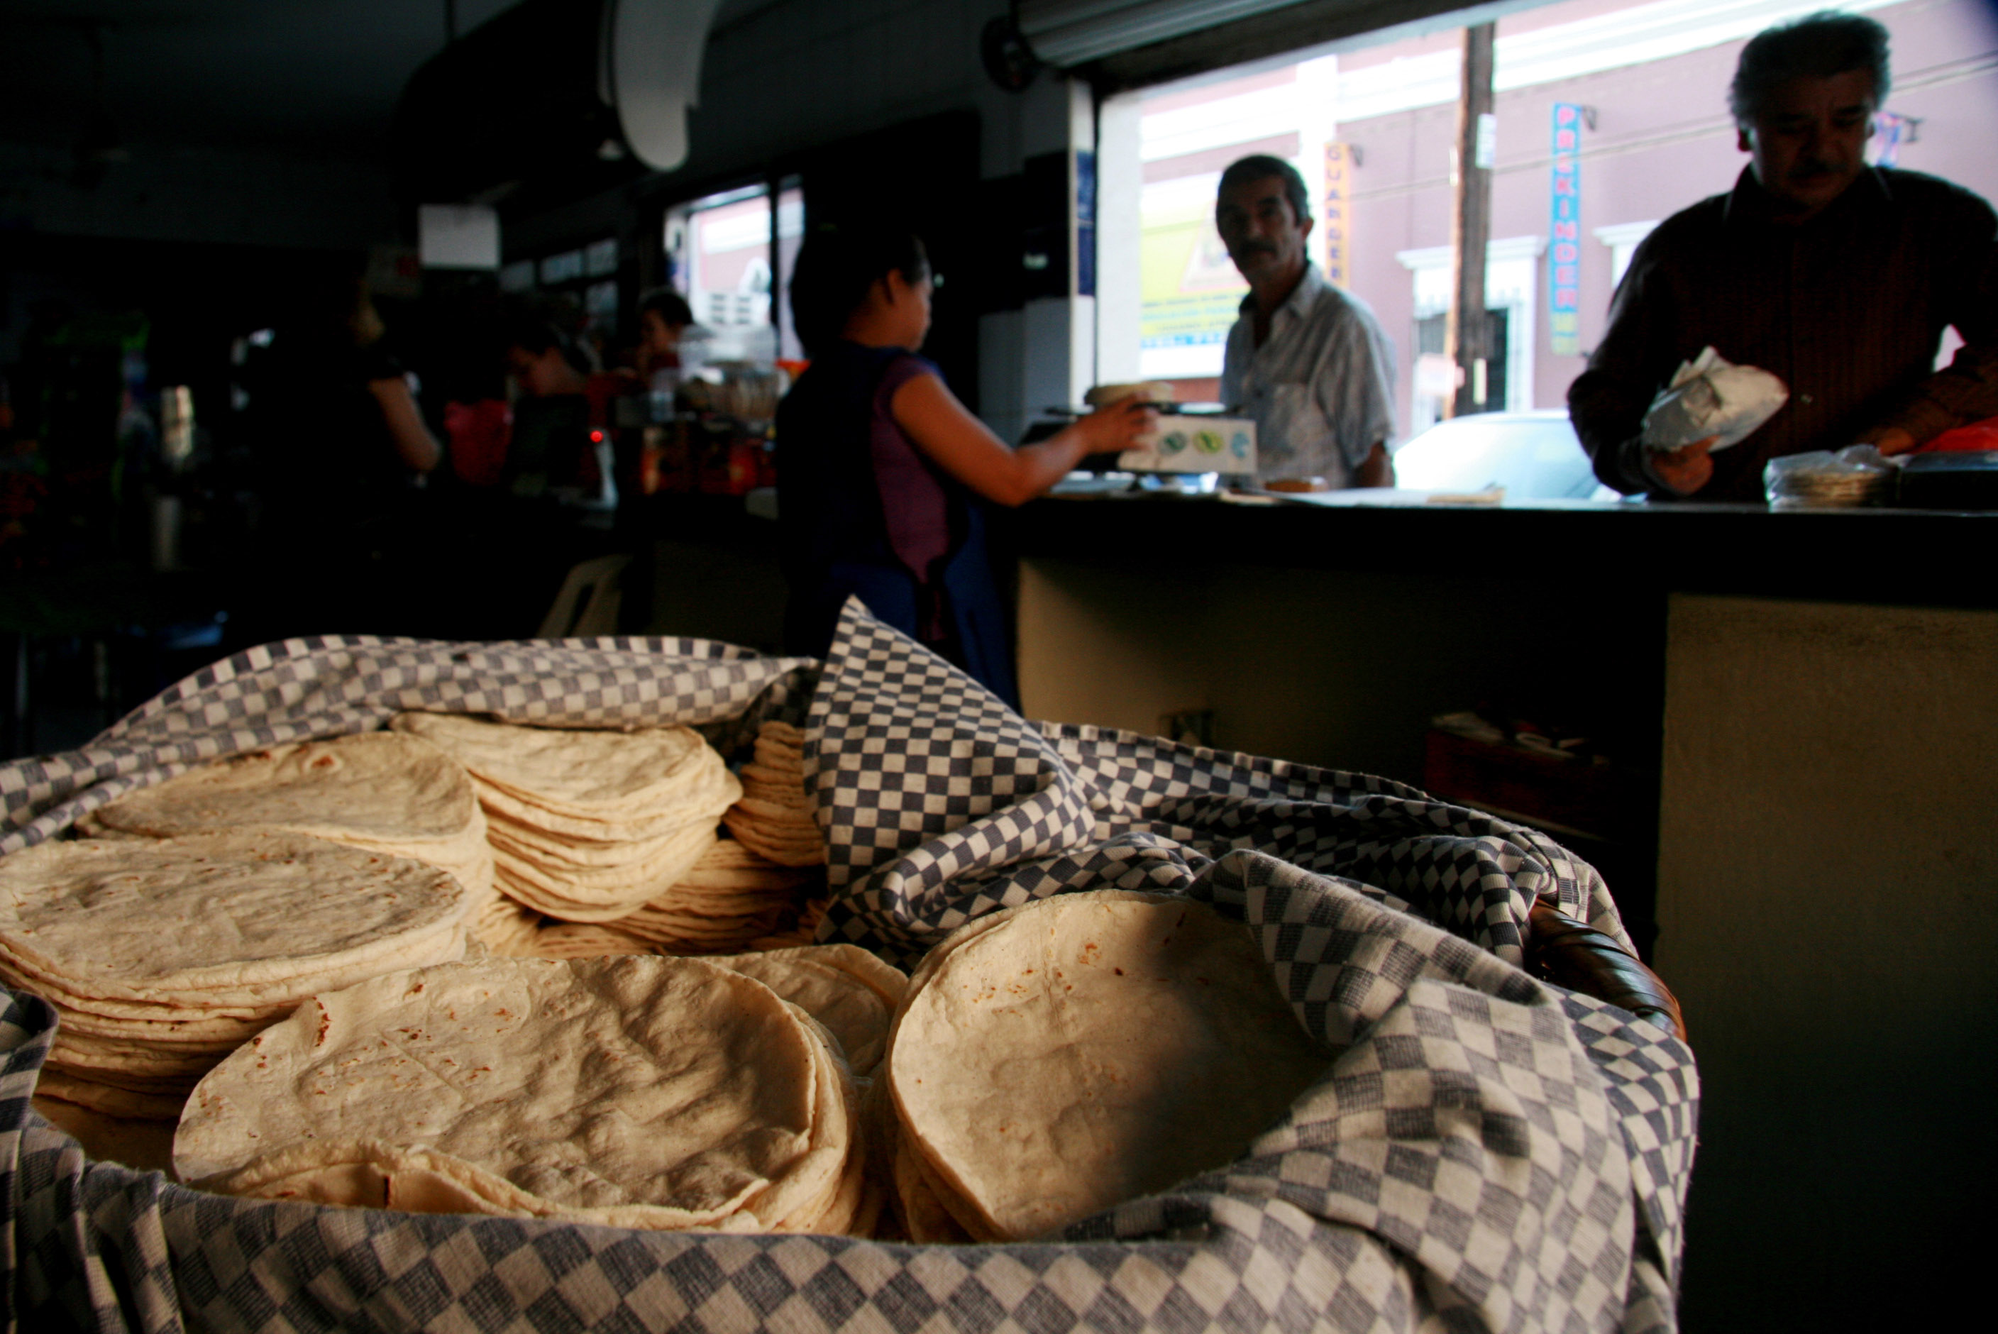
<path fill-rule="evenodd" d="M 1009 447 L 917 355 L 929 298 L 929 260 L 907 230 L 823 226 L 797 256 L 791 314 L 811 365 L 777 407 L 785 651 L 823 657 L 859 595 L 1019 707 L 985 507 L 1041 495 L 1157 415 L 1127 399 Z"/>

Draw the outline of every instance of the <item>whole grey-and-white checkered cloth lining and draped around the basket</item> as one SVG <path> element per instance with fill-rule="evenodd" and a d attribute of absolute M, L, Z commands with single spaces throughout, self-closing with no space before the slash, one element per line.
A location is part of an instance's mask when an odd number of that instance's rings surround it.
<path fill-rule="evenodd" d="M 1257 933 L 1335 1052 L 1325 1078 L 1225 1170 L 1039 1244 L 619 1232 L 232 1200 L 88 1162 L 28 1106 L 52 1010 L 0 993 L 18 1328 L 1674 1328 L 1692 1056 L 1510 963 L 1534 895 L 1616 931 L 1586 865 L 1381 779 L 1023 723 L 859 607 L 813 669 L 697 641 L 278 645 L 88 751 L 0 771 L 0 847 L 188 763 L 408 707 L 695 721 L 733 745 L 809 699 L 829 937 L 907 959 L 1039 895 L 1187 893 Z"/>

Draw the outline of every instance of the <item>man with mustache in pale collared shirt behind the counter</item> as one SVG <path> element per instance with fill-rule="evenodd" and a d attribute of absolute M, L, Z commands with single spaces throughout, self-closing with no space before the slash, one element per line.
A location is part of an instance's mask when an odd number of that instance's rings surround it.
<path fill-rule="evenodd" d="M 1221 174 L 1215 228 L 1249 280 L 1221 401 L 1257 423 L 1257 475 L 1395 485 L 1395 345 L 1367 304 L 1305 256 L 1311 196 L 1297 168 L 1265 154 L 1235 162 Z"/>

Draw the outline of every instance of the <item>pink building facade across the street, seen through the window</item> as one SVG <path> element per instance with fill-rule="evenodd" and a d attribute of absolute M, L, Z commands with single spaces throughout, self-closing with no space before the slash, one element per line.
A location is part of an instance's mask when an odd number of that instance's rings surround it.
<path fill-rule="evenodd" d="M 1794 10 L 1794 6 L 1790 6 Z M 1880 20 L 1892 40 L 1894 88 L 1872 152 L 1908 170 L 1998 198 L 1998 30 L 1980 0 L 1846 4 Z M 1740 48 L 1782 6 L 1756 0 L 1564 0 L 1498 20 L 1497 160 L 1487 302 L 1504 312 L 1506 355 L 1495 367 L 1493 407 L 1560 407 L 1586 351 L 1600 339 L 1630 250 L 1650 226 L 1732 188 L 1746 166 L 1726 112 Z M 1734 32 L 1728 40 L 1710 40 Z M 1618 48 L 1626 42 L 1626 48 Z M 1686 50 L 1692 46 L 1692 50 Z M 1674 50 L 1676 48 L 1676 50 Z M 1345 284 L 1379 316 L 1397 349 L 1397 425 L 1407 437 L 1437 419 L 1441 312 L 1451 290 L 1453 148 L 1457 140 L 1457 30 L 1263 70 L 1201 90 L 1167 92 L 1161 108 L 1205 98 L 1269 96 L 1285 78 L 1337 86 L 1335 124 L 1209 148 L 1187 164 L 1217 172 L 1245 152 L 1295 156 L 1307 182 L 1325 178 L 1323 144 L 1345 154 Z M 1662 50 L 1662 58 L 1644 58 Z M 1608 66 L 1608 68 L 1604 68 Z M 1578 70 L 1578 72 L 1570 72 Z M 1439 80 L 1441 72 L 1441 80 Z M 1423 102 L 1409 106 L 1411 102 Z M 1580 108 L 1578 345 L 1554 349 L 1550 328 L 1552 120 Z M 1317 106 L 1299 90 L 1299 108 Z M 1151 114 L 1153 102 L 1147 102 Z M 1369 114 L 1375 108 L 1387 108 Z M 1305 112 L 1311 120 L 1311 112 Z M 1147 164 L 1157 180 L 1169 164 Z M 1185 186 L 1195 188 L 1193 180 Z M 1325 214 L 1325 208 L 1319 210 Z M 1321 228 L 1325 220 L 1321 218 Z M 1323 240 L 1321 240 L 1323 246 Z M 1319 250 L 1321 264 L 1323 248 Z M 1219 363 L 1217 363 L 1219 365 Z M 1498 393 L 1502 381 L 1502 397 Z M 1205 387 L 1199 379 L 1185 381 Z"/>

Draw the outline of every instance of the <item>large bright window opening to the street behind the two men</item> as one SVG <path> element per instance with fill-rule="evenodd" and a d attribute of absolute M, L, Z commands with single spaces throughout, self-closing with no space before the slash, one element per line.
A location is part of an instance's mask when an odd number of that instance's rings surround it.
<path fill-rule="evenodd" d="M 1998 198 L 1998 156 L 1986 148 L 1998 36 L 1982 0 L 1560 0 L 1504 16 L 1485 294 L 1502 345 L 1491 409 L 1566 401 L 1638 242 L 1658 220 L 1730 190 L 1746 164 L 1726 110 L 1742 42 L 1824 8 L 1870 14 L 1892 40 L 1874 160 Z M 1395 341 L 1399 435 L 1439 417 L 1455 373 L 1437 363 L 1455 288 L 1461 32 L 1347 46 L 1105 104 L 1105 377 L 1171 379 L 1183 401 L 1217 397 L 1247 286 L 1215 234 L 1215 190 L 1227 164 L 1273 154 L 1315 196 L 1313 262 Z M 1562 108 L 1568 120 L 1556 124 Z M 1574 136 L 1580 184 L 1570 230 L 1556 236 L 1560 128 Z M 1121 240 L 1131 232 L 1137 248 Z"/>

